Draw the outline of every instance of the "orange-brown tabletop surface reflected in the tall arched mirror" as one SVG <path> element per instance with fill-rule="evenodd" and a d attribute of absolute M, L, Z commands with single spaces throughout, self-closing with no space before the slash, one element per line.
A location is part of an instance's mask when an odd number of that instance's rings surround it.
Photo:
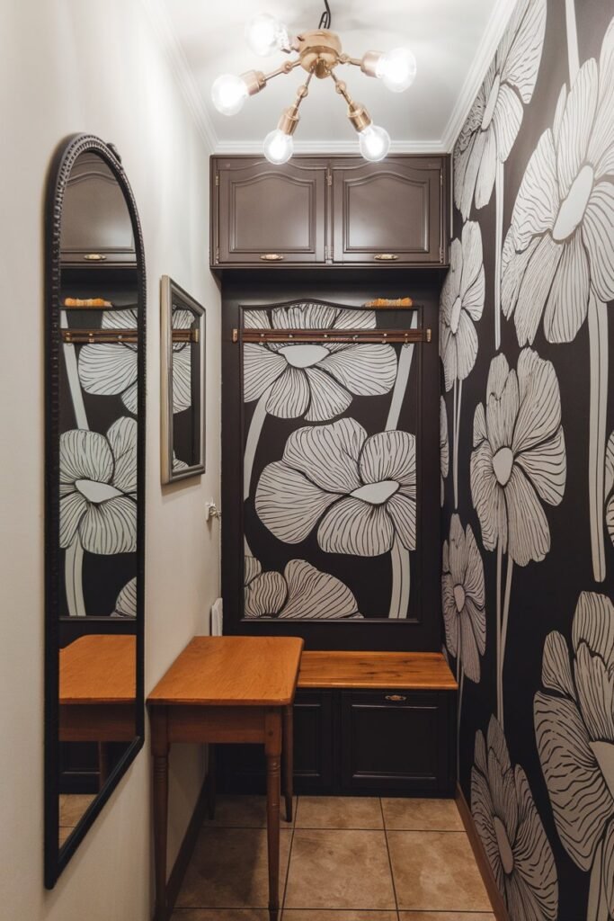
<path fill-rule="evenodd" d="M 60 704 L 133 704 L 136 636 L 91 634 L 60 649 Z"/>

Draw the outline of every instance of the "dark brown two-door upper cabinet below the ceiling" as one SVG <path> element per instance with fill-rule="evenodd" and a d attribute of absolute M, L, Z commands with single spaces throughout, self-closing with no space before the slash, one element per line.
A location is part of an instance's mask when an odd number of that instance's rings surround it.
<path fill-rule="evenodd" d="M 447 157 L 212 159 L 213 267 L 440 266 Z"/>

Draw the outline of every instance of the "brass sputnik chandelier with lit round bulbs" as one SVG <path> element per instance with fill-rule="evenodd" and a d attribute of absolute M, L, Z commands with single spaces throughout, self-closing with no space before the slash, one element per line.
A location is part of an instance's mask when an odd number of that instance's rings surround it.
<path fill-rule="evenodd" d="M 284 109 L 277 128 L 264 138 L 263 153 L 271 163 L 286 163 L 294 152 L 293 134 L 299 121 L 298 110 L 307 96 L 313 76 L 319 79 L 330 77 L 337 92 L 348 105 L 347 116 L 358 133 L 360 152 L 367 160 L 382 160 L 388 154 L 390 136 L 385 128 L 374 124 L 365 106 L 354 102 L 343 80 L 335 69 L 339 64 L 353 64 L 360 67 L 366 76 L 375 76 L 385 87 L 400 93 L 411 86 L 416 74 L 416 61 L 406 48 L 394 51 L 365 52 L 362 58 L 353 58 L 342 51 L 342 42 L 335 32 L 330 31 L 330 6 L 324 0 L 325 10 L 319 20 L 318 29 L 302 32 L 291 38 L 284 23 L 267 13 L 259 13 L 249 19 L 245 29 L 249 47 L 256 54 L 266 57 L 280 51 L 298 56 L 285 61 L 270 74 L 249 70 L 236 76 L 218 76 L 211 89 L 211 97 L 217 111 L 223 115 L 235 115 L 243 108 L 248 96 L 255 96 L 266 87 L 269 80 L 281 74 L 290 74 L 295 67 L 307 71 L 307 79 L 296 90 L 296 98 L 288 109 Z"/>

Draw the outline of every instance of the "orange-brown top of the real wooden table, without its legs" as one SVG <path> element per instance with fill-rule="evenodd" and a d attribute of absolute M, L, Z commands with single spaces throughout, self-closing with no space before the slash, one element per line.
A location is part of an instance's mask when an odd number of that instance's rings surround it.
<path fill-rule="evenodd" d="M 194 636 L 147 703 L 291 704 L 302 648 L 303 640 L 295 636 Z"/>

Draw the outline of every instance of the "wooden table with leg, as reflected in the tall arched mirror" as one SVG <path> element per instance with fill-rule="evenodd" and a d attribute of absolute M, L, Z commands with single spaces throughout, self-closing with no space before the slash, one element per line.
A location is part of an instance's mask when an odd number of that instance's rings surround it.
<path fill-rule="evenodd" d="M 61 742 L 98 742 L 99 785 L 108 742 L 136 734 L 136 637 L 91 634 L 60 649 Z"/>

